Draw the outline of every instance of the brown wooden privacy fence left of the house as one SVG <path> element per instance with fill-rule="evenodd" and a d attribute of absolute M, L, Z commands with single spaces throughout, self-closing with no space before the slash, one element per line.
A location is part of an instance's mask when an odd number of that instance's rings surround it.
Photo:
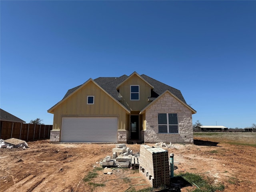
<path fill-rule="evenodd" d="M 17 138 L 25 141 L 50 138 L 52 125 L 1 122 L 1 139 Z"/>

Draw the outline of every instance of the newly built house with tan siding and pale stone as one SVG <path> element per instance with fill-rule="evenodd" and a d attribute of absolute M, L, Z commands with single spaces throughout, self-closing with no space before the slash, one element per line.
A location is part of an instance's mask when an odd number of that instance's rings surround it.
<path fill-rule="evenodd" d="M 48 112 L 52 142 L 193 143 L 196 111 L 180 90 L 137 72 L 90 78 Z"/>

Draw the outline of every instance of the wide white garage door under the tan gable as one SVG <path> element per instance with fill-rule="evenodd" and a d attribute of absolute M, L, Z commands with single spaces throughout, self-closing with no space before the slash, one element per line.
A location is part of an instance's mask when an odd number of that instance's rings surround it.
<path fill-rule="evenodd" d="M 62 118 L 61 142 L 117 142 L 117 118 Z"/>

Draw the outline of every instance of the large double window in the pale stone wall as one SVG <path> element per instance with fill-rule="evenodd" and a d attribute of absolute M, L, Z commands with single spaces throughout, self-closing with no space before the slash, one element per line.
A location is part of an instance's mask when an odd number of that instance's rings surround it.
<path fill-rule="evenodd" d="M 178 114 L 158 113 L 158 133 L 178 133 Z"/>

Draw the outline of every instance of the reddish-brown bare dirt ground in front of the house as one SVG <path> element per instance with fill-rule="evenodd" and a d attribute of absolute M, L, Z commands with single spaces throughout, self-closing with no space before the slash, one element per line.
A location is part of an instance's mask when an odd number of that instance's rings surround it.
<path fill-rule="evenodd" d="M 217 143 L 212 138 L 194 139 L 194 145 L 164 148 L 169 154 L 174 153 L 174 161 L 179 162 L 174 174 L 210 176 L 214 182 L 224 184 L 224 192 L 256 191 L 255 147 Z M 98 162 L 112 155 L 115 144 L 52 144 L 49 140 L 27 143 L 26 150 L 0 149 L 0 192 L 124 192 L 131 186 L 136 190 L 148 187 L 138 170 L 126 168 L 116 168 L 112 175 L 97 171 L 92 182 L 106 184 L 102 187 L 83 181 L 95 166 L 100 167 Z M 139 144 L 127 146 L 134 154 L 140 150 Z"/>

